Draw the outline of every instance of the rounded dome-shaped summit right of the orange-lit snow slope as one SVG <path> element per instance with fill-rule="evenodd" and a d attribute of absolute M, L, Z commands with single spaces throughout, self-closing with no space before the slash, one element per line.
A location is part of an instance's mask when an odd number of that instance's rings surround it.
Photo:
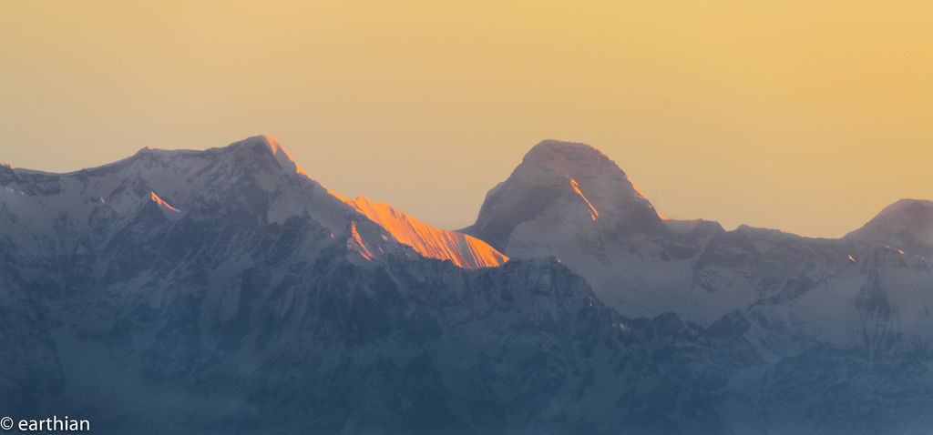
<path fill-rule="evenodd" d="M 512 242 L 524 243 L 522 231 L 553 225 L 567 234 L 592 225 L 610 232 L 664 231 L 657 211 L 616 162 L 588 144 L 561 141 L 532 147 L 489 191 L 476 223 L 464 231 L 511 255 Z"/>

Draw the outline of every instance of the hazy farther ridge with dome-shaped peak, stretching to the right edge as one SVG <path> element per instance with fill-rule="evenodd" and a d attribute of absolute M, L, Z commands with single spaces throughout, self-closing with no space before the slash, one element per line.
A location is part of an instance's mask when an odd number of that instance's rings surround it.
<path fill-rule="evenodd" d="M 929 201 L 898 201 L 836 240 L 745 225 L 725 231 L 665 219 L 592 146 L 545 141 L 463 231 L 513 258 L 559 258 L 628 316 L 674 311 L 709 324 L 734 310 L 769 311 L 834 342 L 861 340 L 882 313 L 899 319 L 900 333 L 933 327 L 923 256 L 933 240 Z"/>

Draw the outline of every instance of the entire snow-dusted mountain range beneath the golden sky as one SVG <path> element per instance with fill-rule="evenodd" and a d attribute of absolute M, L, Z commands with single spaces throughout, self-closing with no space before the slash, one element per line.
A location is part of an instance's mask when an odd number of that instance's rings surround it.
<path fill-rule="evenodd" d="M 545 141 L 447 231 L 257 136 L 0 166 L 0 414 L 101 433 L 926 433 L 933 203 L 662 216 Z"/>

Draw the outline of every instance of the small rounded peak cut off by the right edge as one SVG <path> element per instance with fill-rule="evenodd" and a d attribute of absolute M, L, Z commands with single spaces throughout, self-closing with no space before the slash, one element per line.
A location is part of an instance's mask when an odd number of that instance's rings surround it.
<path fill-rule="evenodd" d="M 933 245 L 933 201 L 900 199 L 884 208 L 868 224 L 845 236 L 870 242 Z"/>

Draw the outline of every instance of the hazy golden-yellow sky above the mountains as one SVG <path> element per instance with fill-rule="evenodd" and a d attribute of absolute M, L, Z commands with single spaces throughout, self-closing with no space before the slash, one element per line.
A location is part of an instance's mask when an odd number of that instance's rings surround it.
<path fill-rule="evenodd" d="M 839 237 L 933 198 L 933 2 L 0 3 L 0 161 L 279 140 L 314 178 L 471 224 L 543 139 L 672 218 Z"/>

